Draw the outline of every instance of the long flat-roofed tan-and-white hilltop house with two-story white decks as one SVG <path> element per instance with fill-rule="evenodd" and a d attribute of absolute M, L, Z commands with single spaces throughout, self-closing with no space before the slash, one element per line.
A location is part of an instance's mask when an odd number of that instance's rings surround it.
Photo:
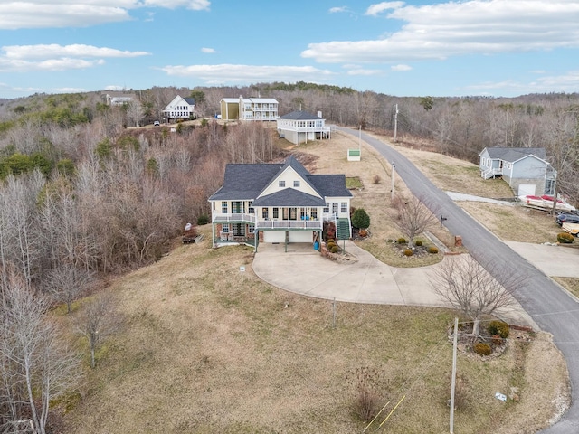
<path fill-rule="evenodd" d="M 278 118 L 277 99 L 273 98 L 223 98 L 219 101 L 223 120 L 267 120 Z"/>

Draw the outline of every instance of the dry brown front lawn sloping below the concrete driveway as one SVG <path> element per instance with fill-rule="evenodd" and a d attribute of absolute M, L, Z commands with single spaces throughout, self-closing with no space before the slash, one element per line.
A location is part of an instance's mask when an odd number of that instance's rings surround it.
<path fill-rule="evenodd" d="M 109 290 L 128 322 L 87 373 L 67 432 L 360 432 L 346 376 L 362 366 L 384 370 L 392 384 L 381 405 L 406 397 L 387 432 L 448 429 L 450 311 L 340 303 L 333 328 L 330 301 L 273 288 L 251 262 L 248 248 L 212 250 L 204 241 L 115 281 Z M 527 365 L 544 365 L 548 356 L 549 372 L 565 369 L 545 343 L 522 357 L 528 344 L 514 342 L 488 362 L 460 354 L 471 405 L 457 412 L 456 429 L 544 426 L 556 393 L 527 375 Z M 494 392 L 511 386 L 521 402 L 495 400 Z M 536 415 L 539 401 L 546 410 Z M 534 414 L 533 423 L 519 413 Z"/>

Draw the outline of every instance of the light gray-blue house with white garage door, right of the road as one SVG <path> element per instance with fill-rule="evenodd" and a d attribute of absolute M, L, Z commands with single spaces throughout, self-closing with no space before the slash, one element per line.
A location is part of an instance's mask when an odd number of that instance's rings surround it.
<path fill-rule="evenodd" d="M 484 179 L 502 177 L 517 196 L 555 193 L 555 169 L 543 147 L 485 147 L 479 154 Z"/>

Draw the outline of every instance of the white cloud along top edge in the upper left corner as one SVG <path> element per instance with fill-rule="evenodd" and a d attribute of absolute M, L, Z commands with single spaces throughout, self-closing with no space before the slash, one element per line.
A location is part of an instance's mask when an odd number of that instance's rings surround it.
<path fill-rule="evenodd" d="M 45 27 L 90 27 L 131 20 L 131 9 L 185 7 L 209 10 L 208 0 L 23 0 L 5 3 L 0 14 L 0 29 Z"/>

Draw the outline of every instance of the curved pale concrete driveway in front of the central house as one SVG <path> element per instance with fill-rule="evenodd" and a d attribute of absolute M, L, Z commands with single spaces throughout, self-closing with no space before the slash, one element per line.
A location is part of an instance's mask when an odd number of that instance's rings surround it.
<path fill-rule="evenodd" d="M 337 263 L 323 258 L 311 244 L 260 244 L 253 259 L 255 274 L 271 285 L 309 297 L 350 303 L 449 307 L 432 290 L 430 281 L 438 265 L 399 269 L 385 265 L 354 242 L 346 251 L 356 262 Z M 461 255 L 468 260 L 468 255 Z M 449 259 L 443 259 L 449 260 Z M 517 305 L 502 311 L 511 324 L 536 324 Z"/>

